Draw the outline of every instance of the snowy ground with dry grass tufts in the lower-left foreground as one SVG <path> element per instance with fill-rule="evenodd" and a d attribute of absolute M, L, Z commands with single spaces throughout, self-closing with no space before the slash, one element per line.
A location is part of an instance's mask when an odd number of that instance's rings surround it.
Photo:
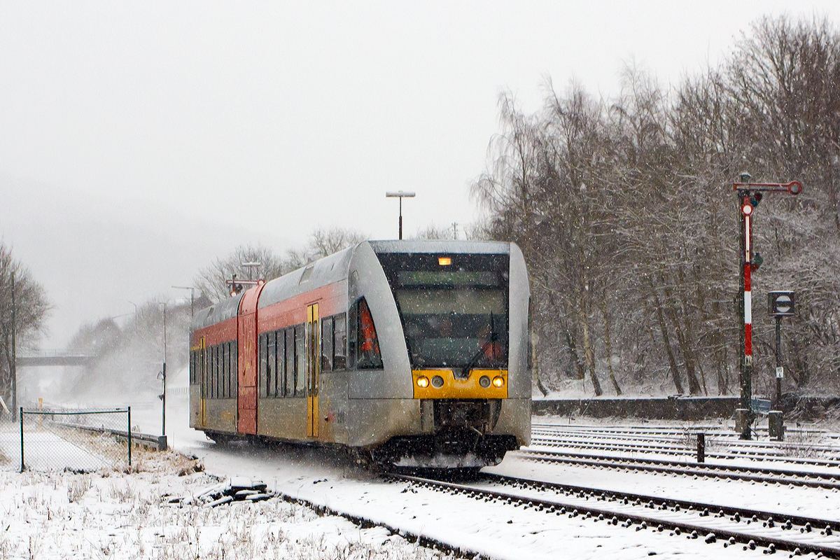
<path fill-rule="evenodd" d="M 0 469 L 0 558 L 435 558 L 380 527 L 360 529 L 273 499 L 167 505 L 218 479 L 178 453 L 139 453 L 137 472 Z"/>

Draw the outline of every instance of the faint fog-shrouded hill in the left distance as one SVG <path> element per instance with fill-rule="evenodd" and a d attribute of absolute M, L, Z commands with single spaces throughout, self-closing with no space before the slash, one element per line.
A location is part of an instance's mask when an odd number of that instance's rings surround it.
<path fill-rule="evenodd" d="M 2 174 L 0 200 L 0 237 L 55 306 L 44 348 L 63 347 L 83 323 L 133 314 L 129 301 L 188 299 L 171 286 L 191 285 L 197 270 L 242 243 L 278 252 L 292 244 L 164 202 L 110 201 Z"/>

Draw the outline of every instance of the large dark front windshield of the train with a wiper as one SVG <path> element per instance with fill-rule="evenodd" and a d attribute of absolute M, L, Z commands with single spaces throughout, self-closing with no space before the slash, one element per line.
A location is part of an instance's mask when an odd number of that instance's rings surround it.
<path fill-rule="evenodd" d="M 379 254 L 412 368 L 507 369 L 507 254 Z"/>

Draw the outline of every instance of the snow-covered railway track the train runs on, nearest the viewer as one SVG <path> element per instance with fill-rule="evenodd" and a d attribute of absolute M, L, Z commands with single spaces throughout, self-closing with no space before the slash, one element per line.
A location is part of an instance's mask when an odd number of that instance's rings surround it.
<path fill-rule="evenodd" d="M 391 474 L 417 486 L 475 500 L 510 505 L 546 515 L 582 516 L 592 522 L 635 531 L 669 531 L 669 535 L 702 538 L 707 544 L 723 547 L 740 544 L 743 550 L 764 547 L 765 553 L 785 550 L 795 554 L 814 553 L 840 558 L 840 522 L 802 516 L 780 516 L 767 511 L 749 510 L 687 500 L 606 491 L 564 484 L 550 484 L 500 475 L 470 484 L 454 484 L 436 479 Z"/>

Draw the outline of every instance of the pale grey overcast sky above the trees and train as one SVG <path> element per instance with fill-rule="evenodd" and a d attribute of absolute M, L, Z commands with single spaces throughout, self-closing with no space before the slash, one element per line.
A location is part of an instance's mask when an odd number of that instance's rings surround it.
<path fill-rule="evenodd" d="M 576 79 L 609 97 L 630 60 L 676 83 L 780 13 L 837 24 L 840 2 L 7 0 L 0 236 L 50 291 L 60 343 L 74 323 L 129 311 L 129 299 L 178 296 L 170 285 L 236 243 L 282 250 L 332 226 L 396 238 L 386 191 L 417 192 L 403 204 L 407 234 L 472 222 L 468 187 L 485 167 L 500 92 L 533 111 L 550 76 L 560 90 Z M 142 274 L 100 251 L 88 272 L 110 287 L 92 305 L 58 280 L 52 256 L 50 232 L 74 216 L 94 231 L 127 217 L 155 224 L 195 250 L 176 264 L 144 255 Z M 102 250 L 146 235 L 121 231 Z M 56 234 L 71 267 L 79 241 Z"/>

